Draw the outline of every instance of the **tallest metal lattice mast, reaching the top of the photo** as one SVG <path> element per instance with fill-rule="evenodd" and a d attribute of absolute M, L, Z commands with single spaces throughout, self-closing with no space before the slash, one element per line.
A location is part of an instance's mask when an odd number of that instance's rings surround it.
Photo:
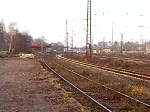
<path fill-rule="evenodd" d="M 87 35 L 86 35 L 86 58 L 92 57 L 92 35 L 91 35 L 91 0 L 87 3 Z"/>

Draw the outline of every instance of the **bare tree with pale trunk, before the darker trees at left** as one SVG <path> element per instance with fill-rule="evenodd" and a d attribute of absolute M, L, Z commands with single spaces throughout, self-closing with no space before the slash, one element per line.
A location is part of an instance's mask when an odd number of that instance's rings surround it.
<path fill-rule="evenodd" d="M 16 23 L 10 23 L 8 26 L 8 33 L 5 36 L 5 42 L 8 45 L 8 52 L 13 52 L 16 44 L 16 34 L 18 32 Z"/>

